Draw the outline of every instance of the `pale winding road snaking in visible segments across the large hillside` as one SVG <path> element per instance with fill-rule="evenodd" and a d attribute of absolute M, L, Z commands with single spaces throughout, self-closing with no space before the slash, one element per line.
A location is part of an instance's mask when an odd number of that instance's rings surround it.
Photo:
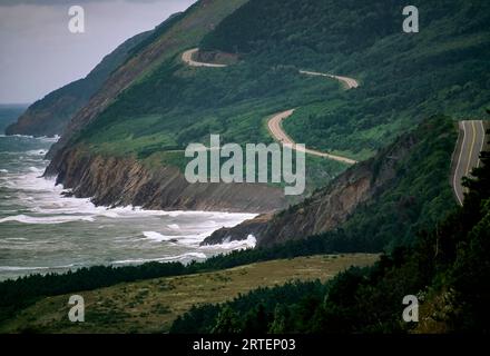
<path fill-rule="evenodd" d="M 193 48 L 187 51 L 185 51 L 182 55 L 182 60 L 187 63 L 190 67 L 209 67 L 209 68 L 223 68 L 227 67 L 226 65 L 215 65 L 215 63 L 205 63 L 205 62 L 198 62 L 193 59 L 193 56 L 199 51 L 198 48 Z M 341 76 L 334 76 L 329 73 L 321 73 L 316 71 L 307 71 L 307 70 L 300 70 L 300 73 L 306 75 L 306 76 L 315 76 L 315 77 L 325 77 L 329 79 L 335 79 L 342 82 L 345 87 L 345 89 L 353 89 L 359 87 L 359 82 L 355 79 L 349 78 L 349 77 L 341 77 Z M 293 141 L 293 139 L 284 131 L 282 127 L 282 121 L 287 119 L 290 116 L 294 113 L 295 109 L 290 109 L 283 112 L 278 112 L 274 115 L 267 122 L 268 130 L 271 135 L 280 142 L 282 144 L 288 144 L 292 145 L 294 149 L 304 151 L 305 154 L 317 156 L 317 157 L 324 157 L 329 159 L 333 159 L 336 161 L 341 161 L 347 165 L 354 165 L 357 161 L 337 156 L 337 155 L 331 155 L 327 152 L 321 152 L 317 150 L 308 149 L 308 148 L 301 148 L 297 147 L 296 144 Z"/>

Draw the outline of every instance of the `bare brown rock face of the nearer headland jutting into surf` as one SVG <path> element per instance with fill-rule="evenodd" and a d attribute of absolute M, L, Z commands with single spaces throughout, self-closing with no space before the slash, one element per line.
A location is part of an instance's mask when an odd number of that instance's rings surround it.
<path fill-rule="evenodd" d="M 332 230 L 356 207 L 373 201 L 395 182 L 396 161 L 406 157 L 415 144 L 414 135 L 405 135 L 373 159 L 351 167 L 305 201 L 276 215 L 262 215 L 236 227 L 217 230 L 203 244 L 246 239 L 252 234 L 258 246 L 270 246 Z"/>

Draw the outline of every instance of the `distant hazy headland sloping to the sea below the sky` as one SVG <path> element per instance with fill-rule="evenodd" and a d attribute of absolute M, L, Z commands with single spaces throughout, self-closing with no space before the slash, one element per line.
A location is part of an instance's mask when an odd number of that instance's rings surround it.
<path fill-rule="evenodd" d="M 145 41 L 151 32 L 147 31 L 130 38 L 106 56 L 87 77 L 57 89 L 32 103 L 17 122 L 7 128 L 6 134 L 61 135 L 74 115 L 88 102 L 110 73 L 130 56 L 131 50 Z"/>

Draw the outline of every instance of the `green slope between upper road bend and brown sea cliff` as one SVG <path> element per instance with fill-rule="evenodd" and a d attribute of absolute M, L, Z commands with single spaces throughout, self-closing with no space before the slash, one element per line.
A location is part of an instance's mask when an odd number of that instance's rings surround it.
<path fill-rule="evenodd" d="M 300 106 L 307 97 L 320 98 L 318 89 L 339 90 L 334 81 L 307 82 L 287 67 L 241 63 L 202 70 L 185 67 L 177 56 L 120 95 L 84 129 L 78 144 L 101 155 L 133 156 L 149 167 L 170 164 L 184 170 L 188 144 L 209 145 L 210 134 L 219 134 L 222 145 L 273 142 L 265 118 L 286 105 Z M 165 151 L 173 151 L 170 160 Z M 307 160 L 308 189 L 326 185 L 346 167 L 314 157 Z"/>

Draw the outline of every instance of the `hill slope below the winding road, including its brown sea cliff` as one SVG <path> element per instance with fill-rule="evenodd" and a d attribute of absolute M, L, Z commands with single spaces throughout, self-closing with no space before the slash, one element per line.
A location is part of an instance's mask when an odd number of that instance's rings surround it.
<path fill-rule="evenodd" d="M 51 150 L 47 175 L 105 205 L 261 212 L 287 206 L 278 186 L 189 185 L 183 175 L 187 144 L 206 142 L 219 128 L 228 131 L 222 132 L 224 141 L 272 141 L 262 121 L 291 99 L 286 92 L 300 103 L 301 93 L 320 98 L 318 88 L 339 90 L 335 82 L 305 80 L 292 68 L 254 65 L 220 73 L 187 68 L 182 53 L 243 2 L 197 2 L 114 72 Z M 110 177 L 104 161 L 117 170 Z M 344 169 L 323 160 L 313 166 L 321 167 L 321 179 Z"/>

